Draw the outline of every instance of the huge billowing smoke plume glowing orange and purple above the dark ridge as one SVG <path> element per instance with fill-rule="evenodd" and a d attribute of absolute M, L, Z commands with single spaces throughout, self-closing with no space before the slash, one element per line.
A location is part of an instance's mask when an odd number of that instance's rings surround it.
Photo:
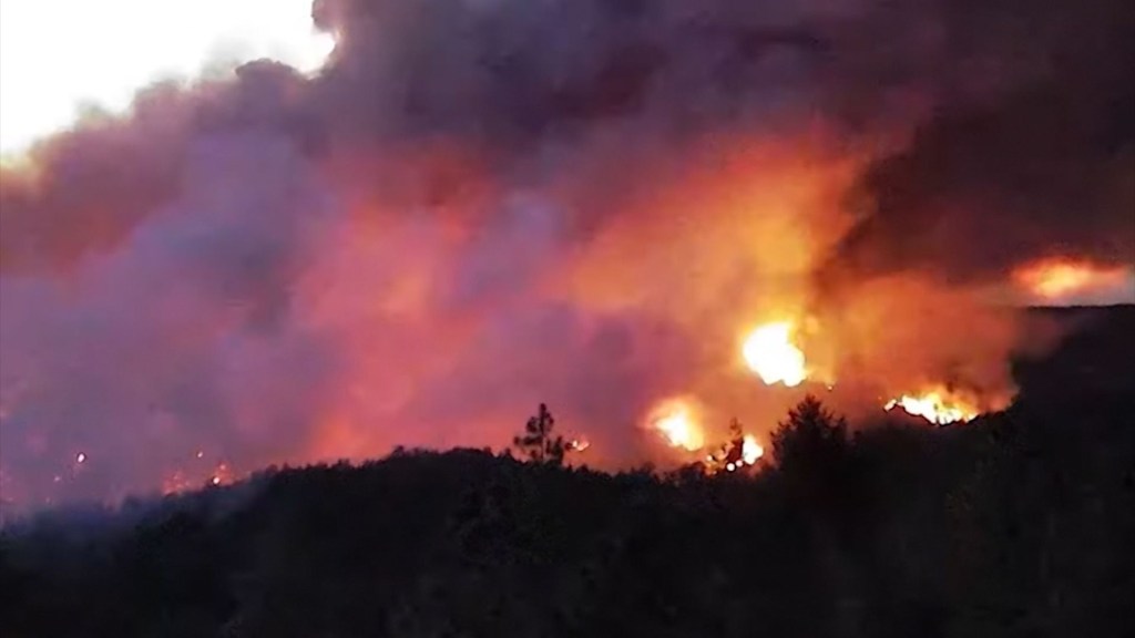
<path fill-rule="evenodd" d="M 319 75 L 44 141 L 0 168 L 9 493 L 502 445 L 537 401 L 607 467 L 671 457 L 673 400 L 1004 405 L 999 287 L 1130 267 L 1135 9 L 838 5 L 321 0 Z"/>

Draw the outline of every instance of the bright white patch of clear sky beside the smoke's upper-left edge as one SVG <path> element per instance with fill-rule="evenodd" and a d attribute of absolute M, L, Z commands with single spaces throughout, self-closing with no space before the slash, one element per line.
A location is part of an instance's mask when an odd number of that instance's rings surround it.
<path fill-rule="evenodd" d="M 2 0 L 0 154 L 72 125 L 83 106 L 123 111 L 155 79 L 271 58 L 317 70 L 334 47 L 312 0 Z"/>

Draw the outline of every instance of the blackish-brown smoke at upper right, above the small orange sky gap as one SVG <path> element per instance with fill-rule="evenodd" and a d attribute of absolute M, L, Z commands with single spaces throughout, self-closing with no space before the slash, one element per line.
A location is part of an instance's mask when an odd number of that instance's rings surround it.
<path fill-rule="evenodd" d="M 1135 5 L 943 7 L 951 40 L 989 44 L 968 72 L 982 90 L 939 87 L 910 143 L 864 173 L 859 221 L 824 275 L 1135 263 Z"/>

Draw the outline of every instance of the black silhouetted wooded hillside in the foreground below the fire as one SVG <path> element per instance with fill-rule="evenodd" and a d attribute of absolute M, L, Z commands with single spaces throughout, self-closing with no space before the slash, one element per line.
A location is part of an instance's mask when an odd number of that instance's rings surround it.
<path fill-rule="evenodd" d="M 748 476 L 398 453 L 41 517 L 0 636 L 1130 636 L 1135 312 L 1086 320 L 1004 413 L 802 405 Z"/>

